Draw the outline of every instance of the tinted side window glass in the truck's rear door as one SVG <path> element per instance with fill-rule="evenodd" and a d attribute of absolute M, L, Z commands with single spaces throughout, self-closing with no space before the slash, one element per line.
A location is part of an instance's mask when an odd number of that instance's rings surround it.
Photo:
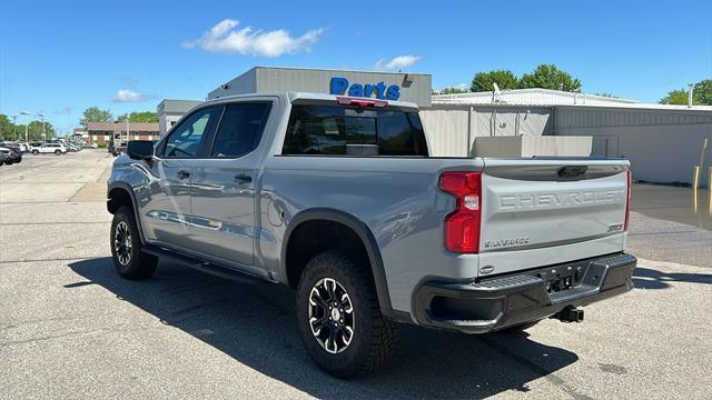
<path fill-rule="evenodd" d="M 241 157 L 257 148 L 267 123 L 270 104 L 237 103 L 225 108 L 211 157 Z"/>

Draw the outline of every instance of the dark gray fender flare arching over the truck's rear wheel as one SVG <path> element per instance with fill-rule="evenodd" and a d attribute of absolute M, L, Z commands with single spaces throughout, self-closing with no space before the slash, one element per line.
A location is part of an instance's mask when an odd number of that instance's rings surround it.
<path fill-rule="evenodd" d="M 370 229 L 366 223 L 359 220 L 357 217 L 347 212 L 329 209 L 329 208 L 314 208 L 297 213 L 290 221 L 287 230 L 285 231 L 284 240 L 281 243 L 281 276 L 285 280 L 288 280 L 287 274 L 287 247 L 291 233 L 304 222 L 326 220 L 337 222 L 352 229 L 360 239 L 366 252 L 368 253 L 368 260 L 370 261 L 370 269 L 374 277 L 374 283 L 376 284 L 376 296 L 378 297 L 378 306 L 380 312 L 390 319 L 403 319 L 404 316 L 397 316 L 398 312 L 393 310 L 390 304 L 390 296 L 388 294 L 388 283 L 386 281 L 386 272 L 380 258 L 380 250 L 378 242 L 374 238 Z M 288 282 L 290 284 L 294 282 Z M 409 320 L 409 317 L 407 318 Z"/>

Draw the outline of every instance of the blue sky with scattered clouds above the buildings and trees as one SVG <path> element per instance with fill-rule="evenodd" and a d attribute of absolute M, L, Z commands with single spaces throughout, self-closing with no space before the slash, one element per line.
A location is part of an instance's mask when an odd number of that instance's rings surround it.
<path fill-rule="evenodd" d="M 402 68 L 438 89 L 542 62 L 654 102 L 712 78 L 712 1 L 9 1 L 0 113 L 43 110 L 63 132 L 88 107 L 155 111 L 254 66 Z"/>

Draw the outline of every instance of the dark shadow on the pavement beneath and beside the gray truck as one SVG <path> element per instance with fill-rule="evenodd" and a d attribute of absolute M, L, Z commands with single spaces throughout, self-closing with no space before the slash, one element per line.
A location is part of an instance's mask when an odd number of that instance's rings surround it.
<path fill-rule="evenodd" d="M 161 262 L 154 278 L 119 278 L 110 258 L 77 261 L 69 267 L 177 327 L 236 361 L 319 398 L 483 398 L 508 390 L 527 391 L 544 377 L 571 393 L 553 376 L 577 361 L 575 353 L 537 343 L 526 332 L 466 336 L 402 326 L 393 362 L 376 374 L 338 380 L 318 370 L 298 336 L 294 291 L 271 283 L 241 283 Z"/>

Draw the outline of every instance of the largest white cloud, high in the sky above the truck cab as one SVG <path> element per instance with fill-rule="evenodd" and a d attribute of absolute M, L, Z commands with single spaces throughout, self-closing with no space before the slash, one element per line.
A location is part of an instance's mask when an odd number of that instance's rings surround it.
<path fill-rule="evenodd" d="M 264 31 L 251 27 L 235 29 L 239 21 L 226 19 L 202 33 L 200 39 L 187 41 L 182 47 L 196 47 L 210 52 L 240 53 L 260 57 L 279 57 L 284 53 L 309 51 L 324 28 L 313 29 L 300 37 L 293 37 L 284 29 Z"/>

